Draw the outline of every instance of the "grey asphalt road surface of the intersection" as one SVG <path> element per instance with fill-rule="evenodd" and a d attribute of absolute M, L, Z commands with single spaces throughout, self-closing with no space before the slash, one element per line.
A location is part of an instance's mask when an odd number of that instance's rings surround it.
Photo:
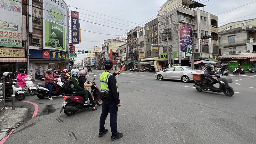
<path fill-rule="evenodd" d="M 87 78 L 95 78 L 100 87 L 102 72 L 93 70 L 88 72 Z M 85 109 L 66 116 L 64 112 L 60 113 L 62 97 L 48 100 L 27 95 L 26 101 L 39 106 L 37 117 L 30 118 L 35 109 L 33 106 L 16 101 L 17 107 L 28 107 L 30 115 L 6 144 L 256 143 L 256 74 L 225 77 L 233 80 L 230 86 L 235 94 L 231 97 L 223 93 L 198 92 L 193 82 L 159 81 L 155 79 L 155 73 L 123 71 L 117 80 L 122 103 L 117 127 L 124 137 L 112 142 L 109 117 L 105 124 L 109 132 L 98 137 L 102 106 L 97 105 L 96 111 Z"/>

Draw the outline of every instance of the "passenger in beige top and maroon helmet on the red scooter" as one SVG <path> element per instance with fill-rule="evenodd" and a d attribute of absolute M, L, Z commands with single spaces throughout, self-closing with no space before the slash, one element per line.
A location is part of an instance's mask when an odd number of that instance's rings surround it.
<path fill-rule="evenodd" d="M 95 104 L 94 104 L 94 101 L 93 101 L 93 98 L 92 98 L 92 95 L 91 93 L 89 92 L 89 88 L 87 87 L 92 87 L 92 83 L 88 84 L 88 81 L 86 79 L 86 75 L 87 75 L 87 72 L 85 70 L 81 70 L 80 71 L 80 77 L 78 78 L 78 81 L 79 81 L 79 86 L 80 87 L 84 87 L 84 90 L 85 91 L 88 91 L 88 98 L 90 100 L 90 103 L 92 103 L 91 107 L 92 107 L 92 110 L 97 110 L 95 108 Z M 86 88 L 86 89 L 85 89 Z"/>

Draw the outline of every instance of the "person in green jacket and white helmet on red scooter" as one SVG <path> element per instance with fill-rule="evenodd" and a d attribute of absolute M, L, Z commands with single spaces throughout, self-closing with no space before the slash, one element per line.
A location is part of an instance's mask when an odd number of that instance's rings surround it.
<path fill-rule="evenodd" d="M 92 105 L 92 103 L 88 102 L 88 92 L 84 90 L 84 87 L 79 86 L 78 75 L 80 74 L 78 69 L 72 69 L 70 71 L 72 78 L 70 79 L 72 91 L 74 94 L 84 95 L 85 102 L 84 105 Z"/>

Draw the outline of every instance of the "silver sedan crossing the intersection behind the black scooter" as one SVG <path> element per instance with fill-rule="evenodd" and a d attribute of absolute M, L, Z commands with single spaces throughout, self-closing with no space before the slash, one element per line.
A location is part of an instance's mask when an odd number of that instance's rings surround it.
<path fill-rule="evenodd" d="M 189 82 L 193 80 L 191 72 L 200 72 L 200 70 L 193 69 L 189 66 L 172 66 L 163 71 L 156 72 L 155 78 L 158 80 L 170 79 Z"/>

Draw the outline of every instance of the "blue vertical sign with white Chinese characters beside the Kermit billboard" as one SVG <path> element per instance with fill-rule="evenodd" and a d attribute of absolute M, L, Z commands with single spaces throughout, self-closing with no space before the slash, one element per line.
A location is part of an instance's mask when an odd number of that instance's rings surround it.
<path fill-rule="evenodd" d="M 77 11 L 71 11 L 71 43 L 79 44 L 79 19 Z"/>

